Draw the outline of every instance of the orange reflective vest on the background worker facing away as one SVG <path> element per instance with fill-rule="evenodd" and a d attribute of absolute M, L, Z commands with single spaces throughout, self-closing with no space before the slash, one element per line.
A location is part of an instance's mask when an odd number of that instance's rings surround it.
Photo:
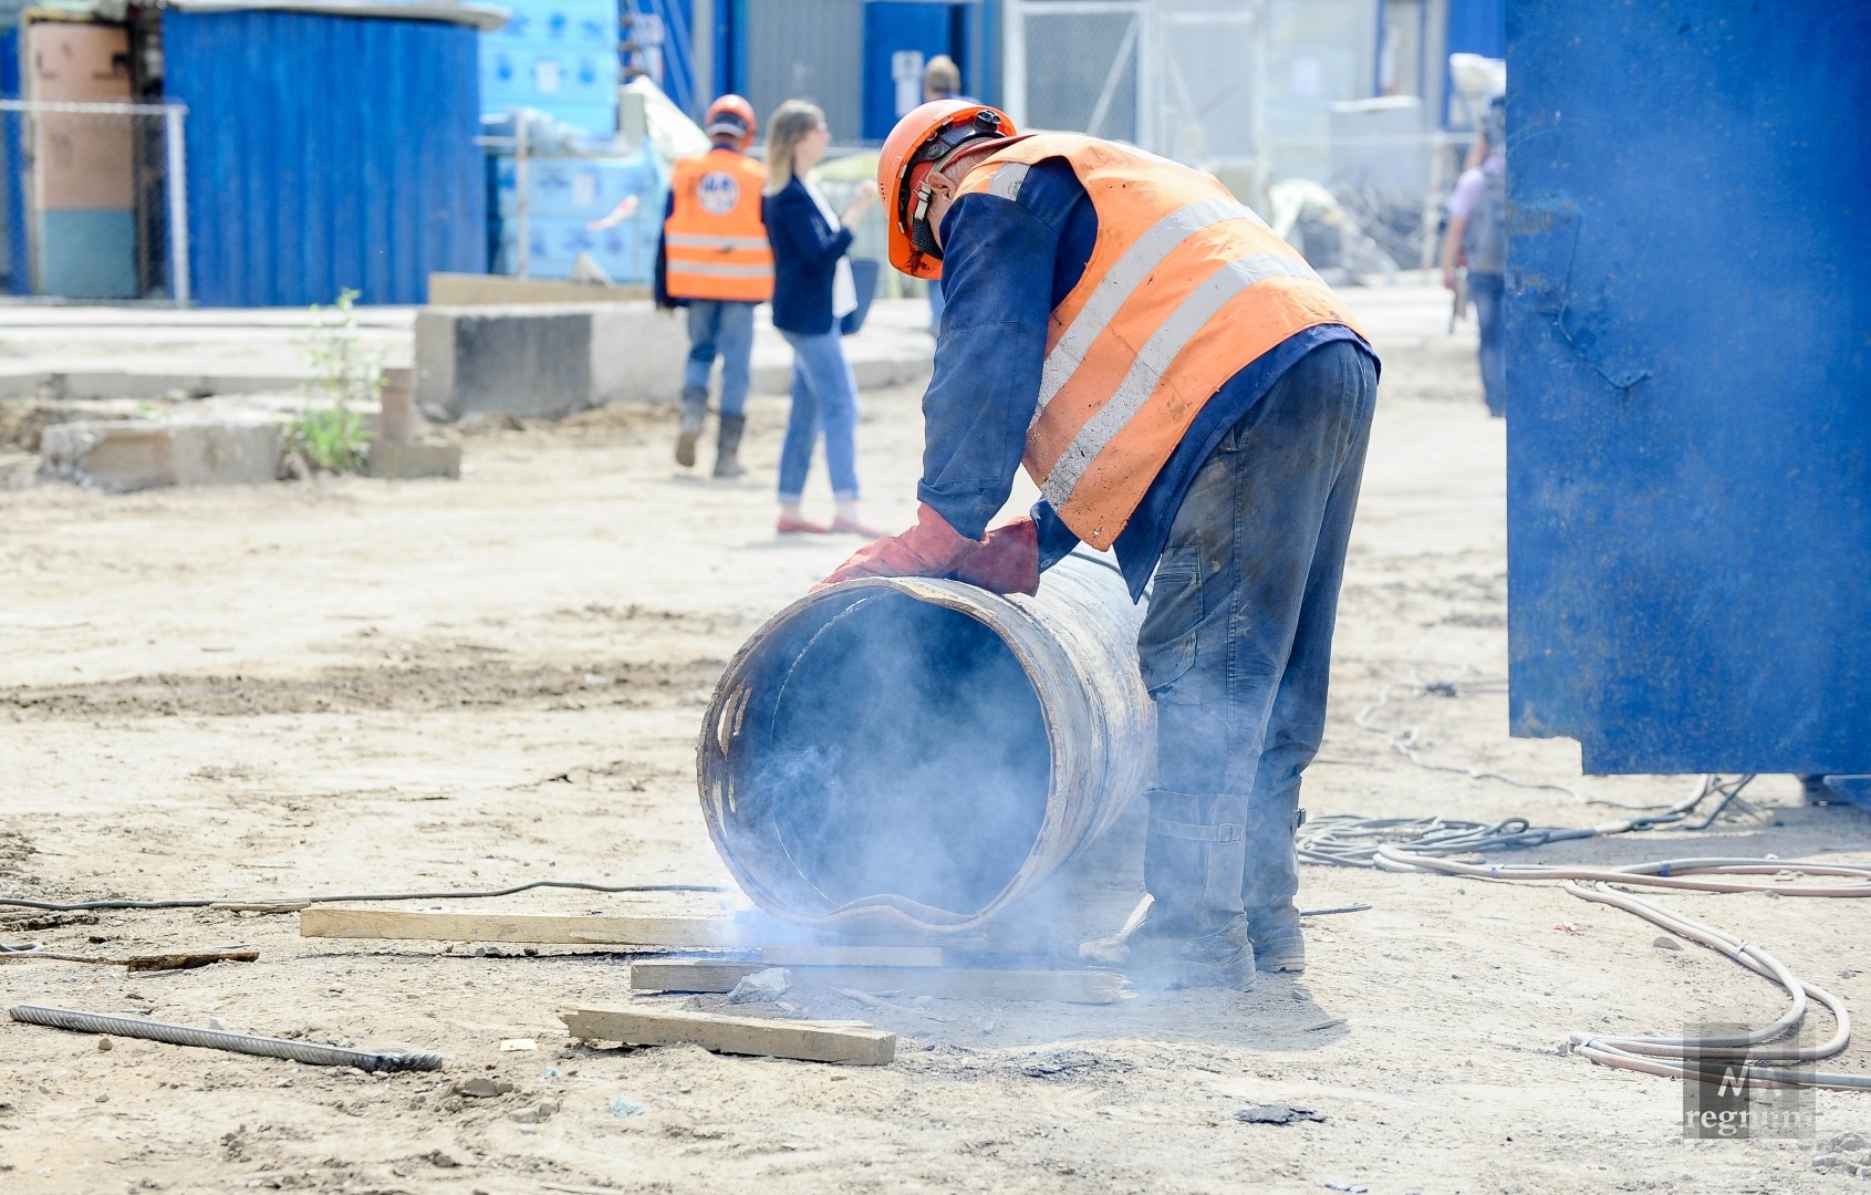
<path fill-rule="evenodd" d="M 765 303 L 773 297 L 773 249 L 760 223 L 767 168 L 733 150 L 675 163 L 675 196 L 662 221 L 666 286 L 674 299 Z"/>

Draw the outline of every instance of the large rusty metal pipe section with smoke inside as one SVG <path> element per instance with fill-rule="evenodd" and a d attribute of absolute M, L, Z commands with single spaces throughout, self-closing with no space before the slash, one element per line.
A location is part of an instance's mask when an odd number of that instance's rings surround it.
<path fill-rule="evenodd" d="M 702 724 L 715 847 L 793 922 L 982 926 L 1153 776 L 1141 617 L 1085 555 L 1033 598 L 870 578 L 793 602 L 730 660 Z"/>

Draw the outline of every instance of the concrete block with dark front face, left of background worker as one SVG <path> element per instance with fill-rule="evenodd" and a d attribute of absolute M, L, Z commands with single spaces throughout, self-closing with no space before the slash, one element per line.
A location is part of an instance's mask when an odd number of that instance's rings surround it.
<path fill-rule="evenodd" d="M 666 400 L 689 352 L 649 303 L 432 307 L 415 316 L 415 406 L 430 419 L 563 419 Z"/>

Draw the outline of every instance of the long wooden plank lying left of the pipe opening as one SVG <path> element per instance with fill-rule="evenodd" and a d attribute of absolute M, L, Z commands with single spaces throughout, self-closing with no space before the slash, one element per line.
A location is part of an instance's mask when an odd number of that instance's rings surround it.
<path fill-rule="evenodd" d="M 408 913 L 329 907 L 299 913 L 299 937 L 576 946 L 741 944 L 733 922 L 718 916 L 563 916 L 550 913 Z"/>

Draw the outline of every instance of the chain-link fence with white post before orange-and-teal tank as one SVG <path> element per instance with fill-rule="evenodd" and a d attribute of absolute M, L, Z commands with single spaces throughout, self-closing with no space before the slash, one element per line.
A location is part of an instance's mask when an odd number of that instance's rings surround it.
<path fill-rule="evenodd" d="M 189 301 L 181 105 L 0 99 L 13 294 Z"/>

